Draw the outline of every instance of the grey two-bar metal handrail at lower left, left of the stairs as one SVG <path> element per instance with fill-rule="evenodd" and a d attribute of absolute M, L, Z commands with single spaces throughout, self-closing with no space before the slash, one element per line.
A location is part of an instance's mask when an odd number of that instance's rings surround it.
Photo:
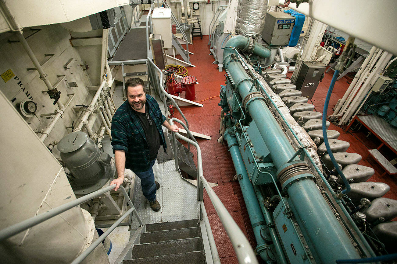
<path fill-rule="evenodd" d="M 52 217 L 55 217 L 56 215 L 59 215 L 59 214 L 65 212 L 77 205 L 85 203 L 86 201 L 89 201 L 97 196 L 100 196 L 106 192 L 109 192 L 110 190 L 114 189 L 115 187 L 116 187 L 116 184 L 112 184 L 106 188 L 97 190 L 95 192 L 92 192 L 91 194 L 87 194 L 83 197 L 80 197 L 78 199 L 75 199 L 75 200 L 65 203 L 63 205 L 60 205 L 58 207 L 55 207 L 49 211 L 46 211 L 45 213 L 36 215 L 34 217 L 23 220 L 17 224 L 13 224 L 12 226 L 4 228 L 3 230 L 0 230 L 0 241 L 8 239 L 9 237 L 12 237 L 24 230 L 27 230 L 33 226 L 36 226 L 37 224 L 40 224 Z M 71 263 L 76 264 L 76 263 L 80 263 L 81 261 L 83 261 L 132 212 L 135 213 L 135 216 L 138 219 L 139 225 L 143 226 L 143 222 L 142 222 L 141 218 L 139 217 L 137 210 L 135 209 L 131 199 L 129 198 L 127 192 L 125 191 L 125 189 L 122 185 L 120 185 L 120 189 L 121 189 L 121 192 L 123 193 L 123 196 L 125 197 L 125 199 L 127 199 L 127 203 L 129 204 L 129 206 L 131 208 L 122 217 L 120 217 L 114 224 L 112 224 L 112 226 L 110 226 L 110 228 L 108 230 L 106 230 L 106 232 L 104 232 L 104 234 L 102 234 L 100 237 L 98 237 L 98 239 L 96 239 L 87 249 L 85 249 Z"/>

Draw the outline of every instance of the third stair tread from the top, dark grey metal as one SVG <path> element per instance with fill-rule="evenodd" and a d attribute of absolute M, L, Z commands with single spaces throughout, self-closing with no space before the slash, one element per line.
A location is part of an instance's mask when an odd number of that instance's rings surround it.
<path fill-rule="evenodd" d="M 203 249 L 202 237 L 146 243 L 134 246 L 131 259 L 202 251 Z"/>

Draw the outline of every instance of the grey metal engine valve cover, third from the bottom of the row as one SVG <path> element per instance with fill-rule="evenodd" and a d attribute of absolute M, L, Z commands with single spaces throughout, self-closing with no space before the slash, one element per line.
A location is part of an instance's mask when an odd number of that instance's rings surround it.
<path fill-rule="evenodd" d="M 358 202 L 361 198 L 373 200 L 384 196 L 390 190 L 390 186 L 383 182 L 357 182 L 350 184 L 350 188 L 351 190 L 347 193 L 347 196 L 353 202 Z"/>

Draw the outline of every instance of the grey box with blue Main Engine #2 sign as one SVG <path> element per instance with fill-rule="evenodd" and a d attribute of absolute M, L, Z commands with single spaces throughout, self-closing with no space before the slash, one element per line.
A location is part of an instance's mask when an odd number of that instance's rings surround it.
<path fill-rule="evenodd" d="M 267 12 L 262 39 L 270 46 L 285 46 L 289 43 L 295 17 L 284 12 Z"/>

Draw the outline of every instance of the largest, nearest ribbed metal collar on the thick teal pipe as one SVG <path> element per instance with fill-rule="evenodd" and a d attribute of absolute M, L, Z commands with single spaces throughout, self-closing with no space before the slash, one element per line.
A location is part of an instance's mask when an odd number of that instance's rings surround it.
<path fill-rule="evenodd" d="M 289 164 L 289 165 L 288 165 Z M 314 178 L 314 175 L 312 171 L 310 170 L 309 166 L 306 163 L 303 163 L 301 161 L 295 161 L 291 163 L 287 163 L 287 166 L 282 168 L 280 171 L 277 173 L 277 179 L 281 183 L 281 186 L 285 188 L 284 186 L 285 182 L 287 180 L 296 177 L 294 182 L 296 180 L 299 180 L 301 178 Z M 292 184 L 292 182 L 289 182 Z"/>

